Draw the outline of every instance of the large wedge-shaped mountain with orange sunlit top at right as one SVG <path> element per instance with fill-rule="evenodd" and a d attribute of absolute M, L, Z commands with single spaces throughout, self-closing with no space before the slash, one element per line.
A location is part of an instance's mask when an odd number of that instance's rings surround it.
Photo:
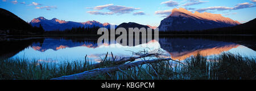
<path fill-rule="evenodd" d="M 174 8 L 172 14 L 163 19 L 159 31 L 195 31 L 212 28 L 232 27 L 240 24 L 220 14 L 190 12 L 184 8 Z"/>

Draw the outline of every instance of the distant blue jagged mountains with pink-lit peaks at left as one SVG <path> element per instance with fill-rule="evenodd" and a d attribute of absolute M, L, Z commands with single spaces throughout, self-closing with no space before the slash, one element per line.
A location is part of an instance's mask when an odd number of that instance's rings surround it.
<path fill-rule="evenodd" d="M 51 20 L 45 19 L 44 17 L 39 17 L 39 18 L 35 18 L 33 20 L 31 20 L 30 24 L 32 26 L 36 26 L 39 27 L 39 25 L 41 24 L 42 27 L 46 30 L 46 31 L 56 31 L 56 30 L 60 30 L 60 31 L 64 31 L 65 29 L 71 29 L 73 27 L 105 27 L 105 28 L 110 28 L 109 23 L 100 23 L 98 21 L 86 21 L 84 23 L 77 23 L 74 21 L 65 21 L 65 20 L 59 20 L 56 18 L 53 18 Z M 116 27 L 116 25 L 115 25 Z"/>

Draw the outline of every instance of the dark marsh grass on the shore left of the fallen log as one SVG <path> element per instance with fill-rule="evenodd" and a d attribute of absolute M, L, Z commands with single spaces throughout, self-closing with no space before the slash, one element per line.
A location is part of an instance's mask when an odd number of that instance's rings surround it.
<path fill-rule="evenodd" d="M 27 59 L 0 61 L 0 79 L 51 79 L 63 75 L 92 70 L 88 61 L 49 63 Z"/>

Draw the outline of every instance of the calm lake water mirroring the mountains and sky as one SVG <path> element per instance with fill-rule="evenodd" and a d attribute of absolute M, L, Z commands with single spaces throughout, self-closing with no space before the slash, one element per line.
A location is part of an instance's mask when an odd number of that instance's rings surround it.
<path fill-rule="evenodd" d="M 199 51 L 208 57 L 222 52 L 256 57 L 253 36 L 160 36 L 159 41 L 152 40 L 147 44 L 135 46 L 97 45 L 97 38 L 91 36 L 10 38 L 9 41 L 2 41 L 1 44 L 1 57 L 35 59 L 44 62 L 84 60 L 87 55 L 90 60 L 97 63 L 107 52 L 112 52 L 119 58 L 133 56 L 131 51 L 158 49 L 162 50 L 166 57 L 175 60 L 184 60 Z"/>

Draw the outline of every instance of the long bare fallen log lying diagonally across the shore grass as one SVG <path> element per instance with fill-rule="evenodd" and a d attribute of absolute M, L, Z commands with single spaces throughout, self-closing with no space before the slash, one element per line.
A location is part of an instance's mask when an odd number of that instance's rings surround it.
<path fill-rule="evenodd" d="M 81 73 L 76 73 L 68 76 L 61 76 L 57 78 L 53 78 L 51 80 L 78 80 L 78 79 L 89 79 L 90 77 L 95 77 L 100 75 L 101 73 L 110 73 L 121 70 L 127 70 L 128 68 L 139 66 L 146 63 L 156 63 L 161 62 L 163 60 L 172 60 L 171 58 L 160 58 L 160 59 L 152 59 L 152 60 L 141 60 L 134 63 L 121 64 L 119 66 L 109 67 L 109 68 L 96 68 L 94 70 L 85 71 Z M 179 62 L 177 60 L 172 60 L 175 62 Z M 180 62 L 179 62 L 180 63 Z"/>

